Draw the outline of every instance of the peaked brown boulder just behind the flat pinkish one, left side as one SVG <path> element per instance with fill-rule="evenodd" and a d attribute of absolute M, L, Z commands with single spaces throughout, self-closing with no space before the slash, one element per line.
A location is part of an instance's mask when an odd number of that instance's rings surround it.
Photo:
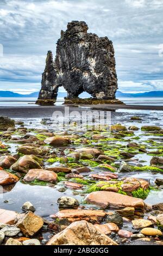
<path fill-rule="evenodd" d="M 15 172 L 28 173 L 30 169 L 42 169 L 40 163 L 32 155 L 24 155 L 12 164 L 11 169 Z"/>

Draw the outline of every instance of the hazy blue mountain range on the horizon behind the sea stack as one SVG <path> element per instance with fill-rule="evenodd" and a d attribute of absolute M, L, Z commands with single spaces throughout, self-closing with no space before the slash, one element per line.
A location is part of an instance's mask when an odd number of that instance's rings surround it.
<path fill-rule="evenodd" d="M 64 92 L 59 92 L 58 97 L 65 97 L 67 94 Z M 0 97 L 38 97 L 39 92 L 30 93 L 30 94 L 20 94 L 20 93 L 13 93 L 10 91 L 0 91 Z M 89 97 L 90 95 L 87 93 L 83 93 L 82 97 Z M 147 93 L 122 93 L 117 91 L 116 97 L 163 97 L 163 90 L 160 91 L 153 91 Z"/>

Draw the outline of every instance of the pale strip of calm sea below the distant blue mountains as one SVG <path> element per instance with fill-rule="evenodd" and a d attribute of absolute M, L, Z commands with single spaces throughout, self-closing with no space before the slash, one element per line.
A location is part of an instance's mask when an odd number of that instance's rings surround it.
<path fill-rule="evenodd" d="M 163 97 L 122 97 L 119 98 L 121 101 L 127 105 L 153 105 L 153 106 L 163 106 Z M 32 107 L 36 106 L 34 103 L 36 98 L 34 97 L 0 97 L 0 107 Z M 63 98 L 58 98 L 56 105 L 61 105 L 64 102 Z"/>

